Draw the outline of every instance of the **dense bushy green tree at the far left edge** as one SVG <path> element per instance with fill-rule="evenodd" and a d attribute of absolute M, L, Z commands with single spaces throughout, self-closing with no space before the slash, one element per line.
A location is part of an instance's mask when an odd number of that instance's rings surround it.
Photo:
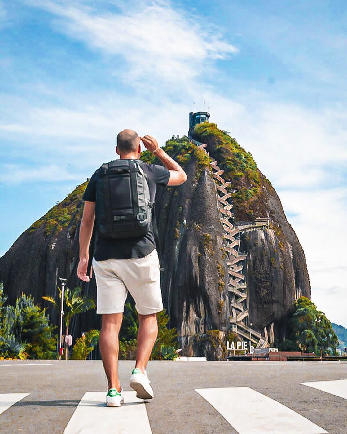
<path fill-rule="evenodd" d="M 22 293 L 15 306 L 4 306 L 7 296 L 0 287 L 0 355 L 4 358 L 54 358 L 56 326 L 49 323 L 46 309 Z"/>

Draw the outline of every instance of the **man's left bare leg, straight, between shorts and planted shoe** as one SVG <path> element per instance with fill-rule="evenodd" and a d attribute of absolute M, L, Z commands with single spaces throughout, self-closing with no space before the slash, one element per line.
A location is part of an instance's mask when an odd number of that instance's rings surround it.
<path fill-rule="evenodd" d="M 102 325 L 99 339 L 102 364 L 104 365 L 108 388 L 121 391 L 118 378 L 118 333 L 123 320 L 123 312 L 110 313 L 102 316 Z"/>

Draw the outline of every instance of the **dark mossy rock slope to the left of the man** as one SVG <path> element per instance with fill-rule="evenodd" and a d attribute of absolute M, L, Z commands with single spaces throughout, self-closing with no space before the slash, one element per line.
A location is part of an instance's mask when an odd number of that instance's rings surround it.
<path fill-rule="evenodd" d="M 83 214 L 82 195 L 88 182 L 77 186 L 62 202 L 25 230 L 0 258 L 0 280 L 8 302 L 15 302 L 22 292 L 32 294 L 35 302 L 48 307 L 52 322 L 59 324 L 59 313 L 42 296 L 59 296 L 59 277 L 67 286 L 81 286 L 77 277 L 79 262 L 79 224 Z M 85 294 L 96 298 L 95 278 L 83 283 Z M 71 333 L 77 339 L 83 331 L 100 328 L 95 312 L 86 312 L 72 321 Z"/>

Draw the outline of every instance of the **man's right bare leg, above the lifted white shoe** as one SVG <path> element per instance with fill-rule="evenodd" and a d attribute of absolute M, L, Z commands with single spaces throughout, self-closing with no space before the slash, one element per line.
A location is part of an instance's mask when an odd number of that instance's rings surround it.
<path fill-rule="evenodd" d="M 158 321 L 157 314 L 150 315 L 138 314 L 139 328 L 137 332 L 137 352 L 136 352 L 136 365 L 144 374 L 147 362 L 151 356 L 154 342 L 158 335 Z"/>

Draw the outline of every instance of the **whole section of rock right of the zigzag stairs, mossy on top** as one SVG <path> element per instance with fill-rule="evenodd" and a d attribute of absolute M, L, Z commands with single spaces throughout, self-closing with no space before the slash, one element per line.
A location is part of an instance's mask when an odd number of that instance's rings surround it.
<path fill-rule="evenodd" d="M 247 253 L 242 273 L 247 284 L 248 325 L 265 336 L 285 339 L 288 312 L 300 296 L 311 298 L 304 251 L 288 223 L 281 201 L 270 181 L 256 168 L 249 152 L 235 139 L 205 122 L 193 134 L 206 143 L 206 151 L 230 181 L 233 224 L 243 227 L 259 217 L 269 225 L 239 233 L 239 251 Z"/>

